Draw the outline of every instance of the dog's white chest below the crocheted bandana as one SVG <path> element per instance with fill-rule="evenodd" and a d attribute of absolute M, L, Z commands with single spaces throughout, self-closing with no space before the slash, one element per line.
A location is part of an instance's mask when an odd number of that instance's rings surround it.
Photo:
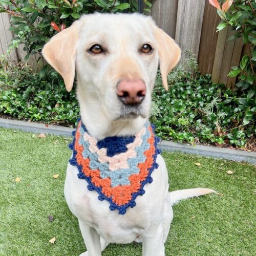
<path fill-rule="evenodd" d="M 87 181 L 77 178 L 77 169 L 69 164 L 65 182 L 65 197 L 72 213 L 88 222 L 105 239 L 113 243 L 131 243 L 140 234 L 150 232 L 161 221 L 166 184 L 160 172 L 153 173 L 154 182 L 145 186 L 136 206 L 125 215 L 111 211 L 106 201 L 99 201 L 96 191 L 90 191 Z"/>

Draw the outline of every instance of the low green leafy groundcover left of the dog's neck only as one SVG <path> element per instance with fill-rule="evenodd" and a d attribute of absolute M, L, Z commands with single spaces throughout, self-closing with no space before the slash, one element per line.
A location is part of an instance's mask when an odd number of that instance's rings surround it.
<path fill-rule="evenodd" d="M 0 113 L 18 119 L 75 125 L 79 107 L 75 90 L 68 93 L 55 71 L 40 78 L 21 64 L 0 70 Z"/>

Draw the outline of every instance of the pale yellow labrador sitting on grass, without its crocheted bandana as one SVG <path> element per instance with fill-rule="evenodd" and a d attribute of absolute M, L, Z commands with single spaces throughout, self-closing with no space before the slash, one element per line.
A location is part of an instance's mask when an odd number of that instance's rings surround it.
<path fill-rule="evenodd" d="M 133 136 L 134 141 L 144 143 L 138 134 L 144 131 L 145 135 L 151 131 L 143 127 L 147 127 L 145 124 L 150 114 L 151 93 L 158 65 L 160 63 L 163 86 L 167 90 L 167 74 L 177 65 L 181 50 L 172 38 L 155 25 L 151 17 L 95 13 L 82 16 L 71 27 L 53 36 L 42 54 L 62 76 L 67 91 L 72 89 L 76 72 L 81 125 L 86 127 L 79 132 L 83 138 L 79 134 L 76 136 L 82 139 L 82 143 L 98 143 L 112 137 L 125 140 Z M 81 146 L 79 143 L 76 145 L 77 151 L 73 154 L 78 154 Z M 105 154 L 104 148 L 95 149 L 95 145 L 94 149 L 90 147 L 89 154 L 93 150 Z M 79 156 L 78 160 L 87 164 L 87 160 L 81 154 Z M 107 166 L 111 165 L 110 162 Z M 115 203 L 111 201 L 112 197 L 100 198 L 103 190 L 87 188 L 97 177 L 79 179 L 81 169 L 77 166 L 68 165 L 65 197 L 70 210 L 78 218 L 88 250 L 81 254 L 83 256 L 101 255 L 109 243 L 133 241 L 142 242 L 145 256 L 164 255 L 164 243 L 173 219 L 172 205 L 181 199 L 214 192 L 207 188 L 194 188 L 169 193 L 166 166 L 163 158 L 157 155 L 151 181 L 143 183 L 143 189 L 139 190 L 143 190 L 143 193 L 136 198 L 136 203 L 128 196 L 131 207 L 125 204 L 124 209 L 123 206 L 119 207 L 121 203 L 118 200 Z M 113 175 L 114 169 L 113 165 L 107 171 Z M 130 172 L 129 168 L 125 170 Z M 92 169 L 87 171 L 90 173 Z M 108 178 L 105 181 L 109 181 Z M 109 184 L 106 186 L 112 189 Z M 129 189 L 129 184 L 126 187 Z M 106 189 L 104 195 L 107 192 Z M 118 198 L 120 195 L 113 194 L 115 196 Z M 114 206 L 111 208 L 110 204 Z"/>

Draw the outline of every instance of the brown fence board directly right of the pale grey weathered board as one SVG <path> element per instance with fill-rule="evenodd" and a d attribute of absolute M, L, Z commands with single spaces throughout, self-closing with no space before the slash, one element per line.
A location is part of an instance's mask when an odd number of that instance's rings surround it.
<path fill-rule="evenodd" d="M 216 8 L 206 1 L 198 53 L 198 65 L 202 74 L 211 74 L 212 72 L 218 40 L 216 28 L 220 20 L 221 18 L 217 14 Z"/>

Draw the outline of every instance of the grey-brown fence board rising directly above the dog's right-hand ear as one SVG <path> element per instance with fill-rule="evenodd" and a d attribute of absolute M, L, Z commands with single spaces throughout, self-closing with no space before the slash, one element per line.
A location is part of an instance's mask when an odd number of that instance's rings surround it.
<path fill-rule="evenodd" d="M 178 0 L 155 0 L 152 17 L 157 26 L 175 38 Z"/>

